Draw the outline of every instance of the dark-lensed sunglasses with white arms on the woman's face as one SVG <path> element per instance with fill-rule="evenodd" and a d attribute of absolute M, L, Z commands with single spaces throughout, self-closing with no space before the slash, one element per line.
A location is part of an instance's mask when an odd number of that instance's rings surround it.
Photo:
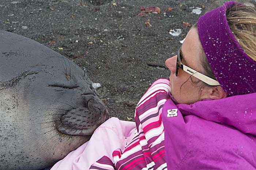
<path fill-rule="evenodd" d="M 218 81 L 216 81 L 206 75 L 203 75 L 202 73 L 200 73 L 196 70 L 193 70 L 192 68 L 182 64 L 181 63 L 182 56 L 180 55 L 180 51 L 181 51 L 181 48 L 178 50 L 178 53 L 177 53 L 177 62 L 176 62 L 176 71 L 175 71 L 176 76 L 178 76 L 178 72 L 179 72 L 179 68 L 180 68 L 181 70 L 184 70 L 188 74 L 194 76 L 195 78 L 203 81 L 204 83 L 206 83 L 210 86 L 220 86 Z"/>

